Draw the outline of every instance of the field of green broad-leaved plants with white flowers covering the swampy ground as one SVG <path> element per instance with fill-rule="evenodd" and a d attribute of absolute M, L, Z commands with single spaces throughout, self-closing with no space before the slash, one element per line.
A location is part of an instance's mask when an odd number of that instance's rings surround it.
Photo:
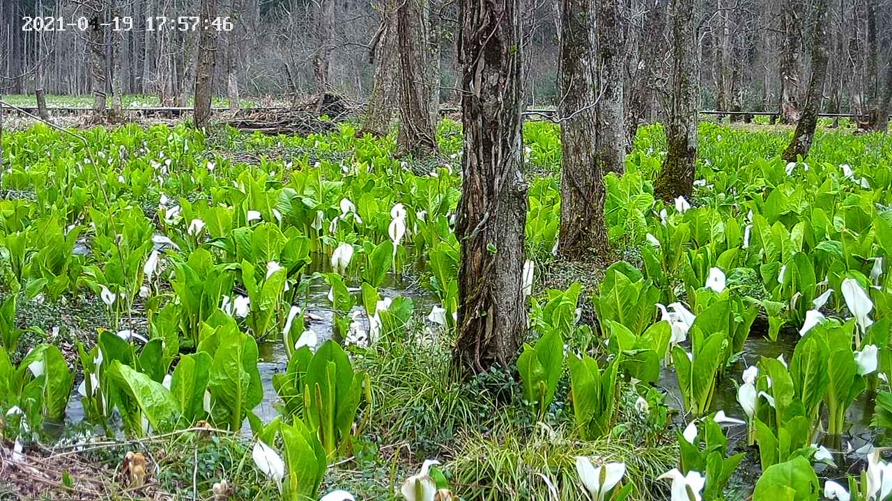
<path fill-rule="evenodd" d="M 4 448 L 136 450 L 129 489 L 218 499 L 814 498 L 813 464 L 842 479 L 892 426 L 892 142 L 825 129 L 787 163 L 787 136 L 701 124 L 694 196 L 665 203 L 665 137 L 640 129 L 607 177 L 624 259 L 591 285 L 556 276 L 558 129 L 525 124 L 529 339 L 470 379 L 450 368 L 456 122 L 425 159 L 350 124 L 4 136 Z M 66 468 L 45 496 L 87 489 Z"/>

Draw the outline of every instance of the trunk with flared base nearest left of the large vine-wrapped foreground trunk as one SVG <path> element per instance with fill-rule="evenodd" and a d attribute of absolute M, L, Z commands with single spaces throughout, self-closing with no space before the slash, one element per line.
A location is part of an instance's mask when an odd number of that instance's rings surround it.
<path fill-rule="evenodd" d="M 434 152 L 437 139 L 430 110 L 430 75 L 425 53 L 428 51 L 426 0 L 399 0 L 397 8 L 397 43 L 400 57 L 400 135 L 401 154 L 415 156 Z"/>

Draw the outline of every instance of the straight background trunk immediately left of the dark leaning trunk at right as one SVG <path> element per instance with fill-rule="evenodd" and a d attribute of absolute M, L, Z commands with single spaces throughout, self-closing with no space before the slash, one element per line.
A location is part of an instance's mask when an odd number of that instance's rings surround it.
<path fill-rule="evenodd" d="M 799 111 L 799 53 L 802 39 L 802 8 L 799 0 L 784 0 L 780 9 L 780 122 L 796 123 Z"/>

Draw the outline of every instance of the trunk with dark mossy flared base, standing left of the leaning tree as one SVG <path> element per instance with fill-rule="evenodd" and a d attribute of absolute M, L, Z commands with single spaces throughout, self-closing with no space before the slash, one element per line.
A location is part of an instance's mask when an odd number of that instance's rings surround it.
<path fill-rule="evenodd" d="M 668 152 L 654 183 L 654 195 L 671 201 L 690 196 L 697 164 L 699 68 L 695 0 L 672 0 L 672 97 L 666 124 Z"/>

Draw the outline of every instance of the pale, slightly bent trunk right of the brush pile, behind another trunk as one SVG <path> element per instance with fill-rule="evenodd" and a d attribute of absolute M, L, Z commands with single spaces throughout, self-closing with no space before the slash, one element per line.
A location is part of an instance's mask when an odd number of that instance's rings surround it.
<path fill-rule="evenodd" d="M 376 136 L 385 136 L 393 125 L 393 105 L 399 100 L 394 56 L 397 48 L 396 2 L 384 0 L 381 9 L 381 26 L 369 48 L 370 59 L 375 62 L 375 78 L 372 92 L 368 95 L 366 121 L 362 130 Z"/>

